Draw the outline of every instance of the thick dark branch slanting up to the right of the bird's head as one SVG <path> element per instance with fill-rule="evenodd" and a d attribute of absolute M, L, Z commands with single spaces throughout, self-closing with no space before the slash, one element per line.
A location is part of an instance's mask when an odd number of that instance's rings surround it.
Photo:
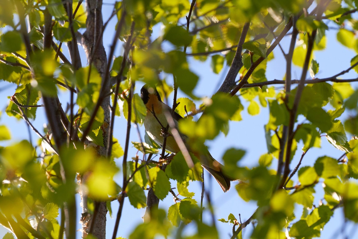
<path fill-rule="evenodd" d="M 232 60 L 229 72 L 227 73 L 226 78 L 222 83 L 221 87 L 219 88 L 218 92 L 230 92 L 232 87 L 235 85 L 235 79 L 237 77 L 237 74 L 239 73 L 241 67 L 243 66 L 242 54 L 241 54 L 242 44 L 244 44 L 245 42 L 246 34 L 249 27 L 250 27 L 250 22 L 247 22 L 242 28 L 240 40 L 239 43 L 237 44 L 237 49 L 234 59 Z"/>

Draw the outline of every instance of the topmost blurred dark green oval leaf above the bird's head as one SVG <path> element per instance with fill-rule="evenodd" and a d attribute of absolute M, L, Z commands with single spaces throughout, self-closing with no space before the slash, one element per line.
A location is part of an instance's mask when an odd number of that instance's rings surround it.
<path fill-rule="evenodd" d="M 189 46 L 193 40 L 193 36 L 182 27 L 170 26 L 165 29 L 163 39 L 168 40 L 175 46 Z"/>

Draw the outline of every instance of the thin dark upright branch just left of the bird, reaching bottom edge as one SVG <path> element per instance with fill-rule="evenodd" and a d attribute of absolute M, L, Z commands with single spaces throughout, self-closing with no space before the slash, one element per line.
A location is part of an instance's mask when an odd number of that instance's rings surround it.
<path fill-rule="evenodd" d="M 126 99 L 127 104 L 128 104 L 128 116 L 127 116 L 126 143 L 125 143 L 125 147 L 124 147 L 123 163 L 122 163 L 122 168 L 123 168 L 123 190 L 126 190 L 126 187 L 127 187 L 127 157 L 128 157 L 129 137 L 130 137 L 131 120 L 132 120 L 132 94 L 133 94 L 133 85 L 131 86 L 131 88 L 129 90 L 129 96 Z M 122 195 L 120 197 L 120 199 L 118 199 L 118 201 L 119 201 L 119 209 L 118 209 L 118 212 L 117 212 L 116 223 L 115 223 L 115 226 L 114 226 L 114 229 L 113 229 L 112 239 L 116 239 L 119 222 L 120 222 L 120 219 L 121 219 L 121 216 L 122 216 L 122 210 L 123 210 L 123 204 L 124 204 L 124 196 Z"/>

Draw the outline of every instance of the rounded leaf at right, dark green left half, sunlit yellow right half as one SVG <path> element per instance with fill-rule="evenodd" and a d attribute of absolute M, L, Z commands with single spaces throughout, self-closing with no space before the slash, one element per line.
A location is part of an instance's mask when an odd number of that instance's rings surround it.
<path fill-rule="evenodd" d="M 322 178 L 337 177 L 339 174 L 337 160 L 327 156 L 318 158 L 314 164 L 314 168 L 317 172 L 317 175 Z"/>

